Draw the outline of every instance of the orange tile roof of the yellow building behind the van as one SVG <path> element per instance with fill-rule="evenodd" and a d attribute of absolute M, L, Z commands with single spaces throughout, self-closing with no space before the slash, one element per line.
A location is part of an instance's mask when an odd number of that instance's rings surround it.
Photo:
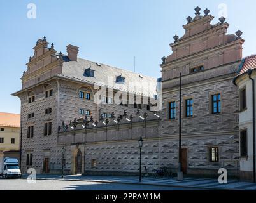
<path fill-rule="evenodd" d="M 20 114 L 0 112 L 0 126 L 20 128 Z"/>

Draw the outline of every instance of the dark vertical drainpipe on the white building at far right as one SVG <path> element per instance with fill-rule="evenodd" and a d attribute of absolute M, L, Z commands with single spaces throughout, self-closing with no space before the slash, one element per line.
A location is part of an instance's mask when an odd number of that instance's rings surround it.
<path fill-rule="evenodd" d="M 253 182 L 255 183 L 255 80 L 252 79 L 252 69 L 248 70 L 250 80 L 252 80 L 252 122 L 253 122 Z"/>

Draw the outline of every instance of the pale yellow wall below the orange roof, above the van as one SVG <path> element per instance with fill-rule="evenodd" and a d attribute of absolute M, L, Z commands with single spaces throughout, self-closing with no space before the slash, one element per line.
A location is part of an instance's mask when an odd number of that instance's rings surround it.
<path fill-rule="evenodd" d="M 4 138 L 4 143 L 0 143 L 0 151 L 19 150 L 20 149 L 20 128 L 4 127 L 0 131 L 0 138 Z M 15 144 L 11 144 L 11 138 L 15 138 Z"/>

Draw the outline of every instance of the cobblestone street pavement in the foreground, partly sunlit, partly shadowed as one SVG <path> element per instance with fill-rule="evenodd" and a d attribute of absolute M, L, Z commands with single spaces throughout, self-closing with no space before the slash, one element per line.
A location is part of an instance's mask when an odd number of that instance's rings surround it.
<path fill-rule="evenodd" d="M 36 180 L 35 184 L 26 179 L 0 178 L 0 190 L 187 190 L 180 187 L 152 185 L 129 185 L 118 183 L 93 183 L 87 181 Z M 192 190 L 192 189 L 190 189 Z"/>

